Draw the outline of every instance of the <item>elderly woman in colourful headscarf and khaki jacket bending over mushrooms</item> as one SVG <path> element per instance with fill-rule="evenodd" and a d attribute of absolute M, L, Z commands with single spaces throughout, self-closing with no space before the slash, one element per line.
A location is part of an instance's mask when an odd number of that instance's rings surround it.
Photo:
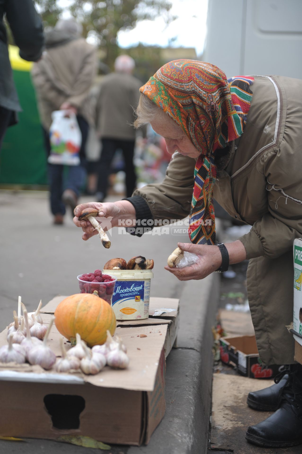
<path fill-rule="evenodd" d="M 302 235 L 302 80 L 279 76 L 226 79 L 216 66 L 193 60 L 165 64 L 141 89 L 136 126 L 151 123 L 173 154 L 163 183 L 114 203 L 74 210 L 83 239 L 96 234 L 79 222 L 82 209 L 130 218 L 175 219 L 189 214 L 192 242 L 179 243 L 198 262 L 168 268 L 180 280 L 203 279 L 249 259 L 248 299 L 260 358 L 290 364 L 276 384 L 250 393 L 257 410 L 276 410 L 248 428 L 246 438 L 267 447 L 302 443 L 302 366 L 294 364 L 292 245 Z M 215 244 L 213 197 L 248 234 Z M 300 198 L 301 197 L 301 198 Z M 287 373 L 288 372 L 288 373 Z M 280 392 L 279 392 L 280 391 Z"/>

